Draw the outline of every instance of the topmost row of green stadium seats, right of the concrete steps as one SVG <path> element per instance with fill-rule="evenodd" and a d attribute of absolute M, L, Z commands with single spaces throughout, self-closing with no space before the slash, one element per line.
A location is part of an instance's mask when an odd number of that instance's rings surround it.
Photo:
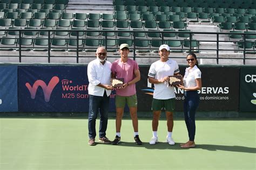
<path fill-rule="evenodd" d="M 204 1 L 204 0 L 179 0 L 179 1 L 161 1 L 158 0 L 156 1 L 147 1 L 146 3 L 143 1 L 140 2 L 124 2 L 124 1 L 115 1 L 113 5 L 137 5 L 137 6 L 180 6 L 180 7 L 185 7 L 185 6 L 191 6 L 191 7 L 211 7 L 211 8 L 219 8 L 219 7 L 224 7 L 224 8 L 255 8 L 255 2 L 251 0 L 229 0 L 229 1 L 223 1 L 223 0 L 217 0 L 217 1 Z"/>

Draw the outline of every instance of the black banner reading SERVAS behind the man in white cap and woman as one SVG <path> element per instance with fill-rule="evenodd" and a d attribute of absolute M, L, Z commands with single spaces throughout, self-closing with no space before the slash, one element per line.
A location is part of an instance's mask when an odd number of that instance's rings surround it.
<path fill-rule="evenodd" d="M 150 111 L 153 84 L 148 82 L 150 66 L 140 66 L 142 79 L 137 83 L 138 110 Z M 184 76 L 185 66 L 180 66 Z M 198 111 L 238 111 L 239 68 L 199 66 L 202 73 L 202 89 L 199 90 Z M 176 88 L 176 110 L 183 111 L 184 90 Z"/>

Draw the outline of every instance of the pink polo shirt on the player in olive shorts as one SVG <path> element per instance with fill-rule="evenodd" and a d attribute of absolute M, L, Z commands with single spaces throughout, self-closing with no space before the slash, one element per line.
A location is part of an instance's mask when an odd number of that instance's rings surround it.
<path fill-rule="evenodd" d="M 139 69 L 136 61 L 128 59 L 127 62 L 122 63 L 120 59 L 112 63 L 111 72 L 116 74 L 117 78 L 124 78 L 124 83 L 130 82 L 134 79 L 134 71 Z M 116 94 L 119 96 L 132 96 L 136 94 L 135 84 L 129 84 L 124 89 L 116 89 Z"/>

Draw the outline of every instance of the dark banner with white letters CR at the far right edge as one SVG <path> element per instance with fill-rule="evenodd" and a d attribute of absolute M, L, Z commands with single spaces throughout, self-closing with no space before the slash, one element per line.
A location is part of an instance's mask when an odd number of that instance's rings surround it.
<path fill-rule="evenodd" d="M 240 68 L 239 111 L 256 112 L 256 68 Z"/>

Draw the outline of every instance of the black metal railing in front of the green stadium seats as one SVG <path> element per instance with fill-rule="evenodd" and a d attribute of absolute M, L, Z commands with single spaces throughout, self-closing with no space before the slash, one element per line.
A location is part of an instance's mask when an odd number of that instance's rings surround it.
<path fill-rule="evenodd" d="M 0 37 L 0 52 L 5 50 L 14 50 L 18 51 L 17 55 L 2 55 L 0 57 L 18 57 L 19 62 L 22 62 L 22 57 L 40 57 L 42 55 L 37 55 L 37 53 L 30 53 L 28 51 L 47 51 L 48 62 L 51 62 L 53 57 L 63 57 L 63 52 L 73 51 L 75 55 L 69 55 L 69 57 L 75 57 L 76 62 L 79 63 L 79 58 L 90 57 L 85 55 L 83 52 L 87 51 L 96 51 L 97 47 L 104 46 L 107 51 L 116 52 L 119 49 L 119 45 L 123 42 L 130 44 L 130 51 L 133 53 L 133 59 L 136 59 L 136 55 L 139 52 L 153 52 L 158 51 L 160 44 L 169 44 L 173 52 L 210 52 L 214 51 L 216 53 L 215 57 L 207 57 L 207 59 L 215 59 L 217 64 L 221 58 L 219 55 L 222 51 L 228 52 L 237 52 L 242 53 L 243 63 L 245 64 L 246 60 L 256 60 L 256 58 L 247 58 L 246 54 L 256 53 L 256 42 L 255 39 L 250 39 L 247 37 L 256 37 L 256 32 L 250 33 L 224 33 L 224 32 L 190 32 L 190 31 L 138 31 L 138 30 L 59 30 L 59 29 L 0 29 L 0 32 L 6 32 L 6 35 Z M 15 35 L 10 35 L 9 32 L 15 32 Z M 36 32 L 36 36 L 24 36 L 25 32 Z M 39 32 L 44 32 L 43 35 L 39 35 Z M 56 32 L 66 32 L 66 36 L 56 36 Z M 88 36 L 90 33 L 96 33 L 97 36 Z M 130 33 L 128 37 L 119 37 L 119 33 Z M 143 33 L 145 36 L 139 37 L 138 34 Z M 156 34 L 152 37 L 149 34 Z M 75 35 L 75 36 L 71 36 Z M 112 34 L 112 36 L 109 36 Z M 174 37 L 167 37 L 166 34 L 174 34 Z M 178 39 L 179 34 L 186 34 L 186 39 Z M 205 40 L 205 39 L 193 39 L 196 36 L 203 35 L 214 35 L 215 40 Z M 239 39 L 231 39 L 231 35 L 240 35 Z M 14 36 L 14 37 L 13 37 Z M 228 38 L 228 40 L 220 40 L 220 37 Z M 183 37 L 184 38 L 184 37 Z M 47 40 L 47 45 L 38 44 L 37 41 Z M 63 41 L 65 40 L 65 41 Z M 72 44 L 70 43 L 72 40 Z M 95 41 L 93 41 L 95 40 Z M 110 44 L 110 40 L 115 41 L 115 43 Z M 88 42 L 91 41 L 91 44 Z M 180 45 L 176 44 L 177 47 L 172 42 L 180 41 Z M 58 44 L 58 42 L 60 44 Z M 128 43 L 129 42 L 129 43 Z M 157 43 L 154 43 L 157 42 Z M 189 42 L 189 43 L 188 43 Z M 203 48 L 201 44 L 204 42 L 215 44 L 215 48 Z M 237 49 L 224 49 L 221 46 L 222 42 L 232 42 L 236 44 Z M 186 47 L 185 47 L 186 46 Z M 22 52 L 26 53 L 23 54 Z M 60 51 L 60 55 L 53 55 L 53 51 Z M 11 54 L 11 53 L 8 53 Z M 32 54 L 32 55 L 31 55 Z M 73 53 L 72 53 L 73 54 Z M 92 57 L 92 56 L 91 56 Z M 95 57 L 95 56 L 93 56 Z M 116 57 L 116 55 L 108 55 L 108 58 Z M 145 53 L 144 56 L 140 58 L 149 58 L 154 56 L 149 56 Z M 158 56 L 156 56 L 158 58 Z M 201 58 L 201 57 L 200 57 Z M 238 59 L 238 58 L 227 58 L 227 59 Z M 1 61 L 1 59 L 0 59 Z"/>

